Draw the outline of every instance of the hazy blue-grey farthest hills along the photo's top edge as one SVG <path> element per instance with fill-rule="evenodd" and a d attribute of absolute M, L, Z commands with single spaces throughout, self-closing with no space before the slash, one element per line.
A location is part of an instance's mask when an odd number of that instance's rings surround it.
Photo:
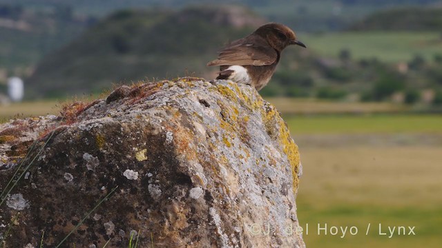
<path fill-rule="evenodd" d="M 127 8 L 168 8 L 178 10 L 186 6 L 241 4 L 271 21 L 287 23 L 302 31 L 342 30 L 367 14 L 384 8 L 432 6 L 441 0 L 0 0 L 26 8 L 48 10 L 64 6 L 76 14 L 104 17 Z"/>

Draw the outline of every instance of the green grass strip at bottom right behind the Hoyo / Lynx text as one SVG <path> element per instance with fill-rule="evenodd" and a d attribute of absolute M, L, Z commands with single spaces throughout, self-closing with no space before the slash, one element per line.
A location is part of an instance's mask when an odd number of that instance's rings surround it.
<path fill-rule="evenodd" d="M 298 216 L 304 226 L 309 224 L 309 234 L 303 238 L 307 247 L 439 247 L 439 235 L 442 225 L 442 208 L 433 207 L 429 209 L 411 209 L 394 207 L 354 207 L 351 205 L 329 206 L 329 209 L 303 210 L 302 203 L 298 203 Z M 333 236 L 325 235 L 324 231 L 318 234 L 318 224 L 324 227 L 356 227 L 358 233 L 343 236 L 342 233 Z M 366 231 L 369 227 L 368 235 Z M 381 230 L 379 229 L 381 224 Z M 397 233 L 388 238 L 387 227 L 411 226 L 414 227 L 416 235 L 398 235 Z M 387 233 L 388 235 L 381 235 Z M 408 229 L 405 232 L 408 234 Z M 343 238 L 341 238 L 343 236 Z"/>

